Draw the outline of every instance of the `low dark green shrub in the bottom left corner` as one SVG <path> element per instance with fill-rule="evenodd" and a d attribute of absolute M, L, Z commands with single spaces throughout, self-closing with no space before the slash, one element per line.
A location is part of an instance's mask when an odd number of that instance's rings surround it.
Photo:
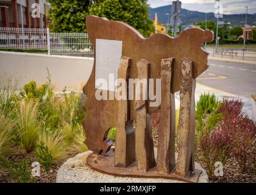
<path fill-rule="evenodd" d="M 29 170 L 29 161 L 25 158 L 18 166 L 13 165 L 7 158 L 0 156 L 0 167 L 9 171 L 10 181 L 15 183 L 30 183 L 34 182 L 34 177 L 31 176 Z"/>

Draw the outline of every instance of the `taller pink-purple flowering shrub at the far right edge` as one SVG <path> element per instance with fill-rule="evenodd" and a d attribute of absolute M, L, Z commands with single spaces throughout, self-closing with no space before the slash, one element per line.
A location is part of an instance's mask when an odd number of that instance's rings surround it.
<path fill-rule="evenodd" d="M 256 134 L 256 125 L 242 113 L 243 102 L 241 100 L 223 101 L 219 112 L 224 119 L 219 123 L 231 135 L 232 157 L 238 162 L 242 171 L 249 167 L 250 148 Z"/>

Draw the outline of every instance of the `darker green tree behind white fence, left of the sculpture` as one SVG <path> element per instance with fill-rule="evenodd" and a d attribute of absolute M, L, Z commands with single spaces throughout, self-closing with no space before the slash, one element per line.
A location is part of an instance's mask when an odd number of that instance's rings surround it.
<path fill-rule="evenodd" d="M 85 32 L 85 17 L 91 0 L 48 0 L 52 32 Z"/>

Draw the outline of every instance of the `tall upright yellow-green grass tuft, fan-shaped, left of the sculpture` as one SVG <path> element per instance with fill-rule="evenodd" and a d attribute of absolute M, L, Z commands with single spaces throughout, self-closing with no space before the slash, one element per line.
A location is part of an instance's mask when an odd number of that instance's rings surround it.
<path fill-rule="evenodd" d="M 16 110 L 17 132 L 21 147 L 26 152 L 31 152 L 38 140 L 41 126 L 37 121 L 37 113 L 38 104 L 33 101 L 21 101 L 20 108 Z"/>

